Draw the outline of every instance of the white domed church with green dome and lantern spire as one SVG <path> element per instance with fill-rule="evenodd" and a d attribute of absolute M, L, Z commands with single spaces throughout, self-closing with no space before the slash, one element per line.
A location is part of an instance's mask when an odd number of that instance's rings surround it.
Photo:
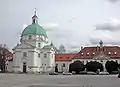
<path fill-rule="evenodd" d="M 55 70 L 55 47 L 48 42 L 46 30 L 38 24 L 36 11 L 32 24 L 21 34 L 13 48 L 13 72 L 51 72 Z"/>

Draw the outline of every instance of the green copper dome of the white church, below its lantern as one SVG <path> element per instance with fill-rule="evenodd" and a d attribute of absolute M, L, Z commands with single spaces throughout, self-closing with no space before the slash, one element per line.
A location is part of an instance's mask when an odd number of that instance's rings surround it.
<path fill-rule="evenodd" d="M 28 35 L 28 34 L 33 34 L 33 35 L 44 35 L 46 36 L 46 31 L 43 29 L 39 24 L 33 23 L 31 25 L 28 25 L 24 31 L 22 32 L 23 35 Z"/>

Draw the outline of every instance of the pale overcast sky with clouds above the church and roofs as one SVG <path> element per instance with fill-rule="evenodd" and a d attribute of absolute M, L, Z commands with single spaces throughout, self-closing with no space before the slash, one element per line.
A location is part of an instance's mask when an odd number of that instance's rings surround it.
<path fill-rule="evenodd" d="M 120 45 L 119 0 L 0 0 L 0 43 L 13 48 L 37 8 L 39 24 L 55 46 Z"/>

